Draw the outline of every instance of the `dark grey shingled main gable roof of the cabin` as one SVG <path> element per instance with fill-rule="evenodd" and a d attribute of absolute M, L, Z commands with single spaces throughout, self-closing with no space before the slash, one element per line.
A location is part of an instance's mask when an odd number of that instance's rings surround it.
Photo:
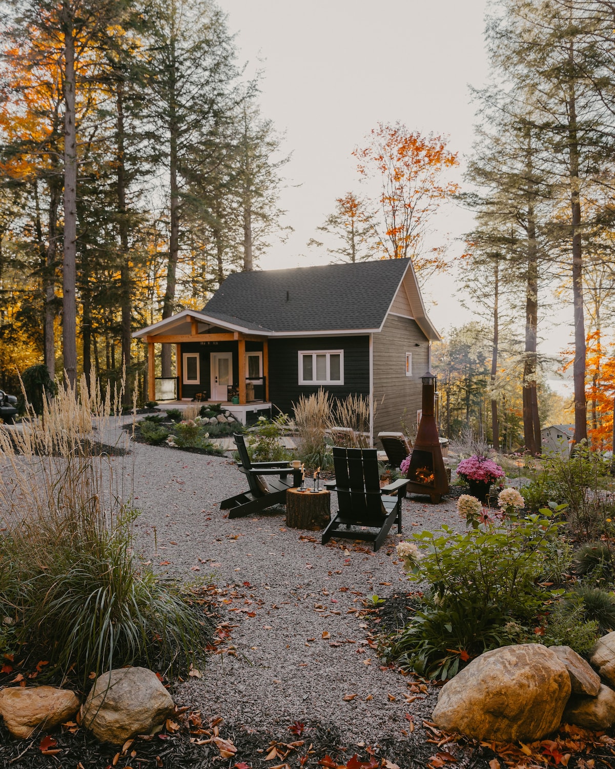
<path fill-rule="evenodd" d="M 275 335 L 327 331 L 378 331 L 401 282 L 417 324 L 439 339 L 424 311 L 410 259 L 237 272 L 223 281 L 203 315 L 257 324 Z"/>

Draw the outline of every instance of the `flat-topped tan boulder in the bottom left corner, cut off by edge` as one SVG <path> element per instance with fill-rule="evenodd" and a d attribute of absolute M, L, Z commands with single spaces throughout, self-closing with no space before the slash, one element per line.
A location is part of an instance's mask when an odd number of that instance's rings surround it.
<path fill-rule="evenodd" d="M 13 737 L 28 739 L 35 728 L 53 729 L 75 716 L 79 700 L 70 689 L 9 687 L 0 691 L 0 714 Z"/>

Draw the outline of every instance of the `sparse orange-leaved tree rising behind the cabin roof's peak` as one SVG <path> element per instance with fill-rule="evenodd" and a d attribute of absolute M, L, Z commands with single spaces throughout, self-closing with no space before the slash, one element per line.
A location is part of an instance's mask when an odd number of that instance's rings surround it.
<path fill-rule="evenodd" d="M 382 258 L 411 257 L 415 270 L 424 275 L 443 269 L 444 250 L 424 252 L 424 237 L 440 203 L 459 189 L 444 180 L 444 172 L 459 165 L 457 154 L 447 150 L 441 136 L 424 137 L 400 123 L 379 123 L 369 138 L 369 145 L 355 148 L 353 155 L 359 173 L 381 183 L 378 204 L 384 225 L 374 228 Z"/>

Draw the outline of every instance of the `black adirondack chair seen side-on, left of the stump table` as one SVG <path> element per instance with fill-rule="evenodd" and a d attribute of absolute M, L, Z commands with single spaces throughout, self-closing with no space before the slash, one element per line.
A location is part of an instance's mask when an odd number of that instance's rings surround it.
<path fill-rule="evenodd" d="M 244 436 L 235 433 L 233 438 L 241 459 L 238 469 L 248 478 L 249 489 L 221 501 L 221 510 L 230 510 L 229 518 L 242 518 L 274 504 L 286 504 L 286 490 L 301 485 L 301 471 L 293 470 L 288 461 L 251 462 Z"/>

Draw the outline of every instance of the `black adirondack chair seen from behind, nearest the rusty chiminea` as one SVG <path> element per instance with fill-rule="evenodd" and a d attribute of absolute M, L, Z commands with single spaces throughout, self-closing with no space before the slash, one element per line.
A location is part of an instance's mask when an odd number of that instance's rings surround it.
<path fill-rule="evenodd" d="M 340 509 L 322 534 L 322 544 L 331 537 L 363 539 L 374 542 L 374 551 L 387 538 L 397 523 L 401 533 L 401 500 L 406 491 L 406 478 L 380 488 L 377 451 L 375 448 L 333 449 L 335 480 L 325 483 L 337 492 Z M 362 531 L 367 526 L 377 531 Z"/>

